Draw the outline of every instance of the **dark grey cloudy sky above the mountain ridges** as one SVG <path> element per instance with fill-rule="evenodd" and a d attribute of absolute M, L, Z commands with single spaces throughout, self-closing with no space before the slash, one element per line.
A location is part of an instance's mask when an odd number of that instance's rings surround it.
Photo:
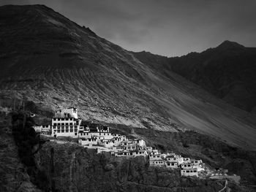
<path fill-rule="evenodd" d="M 230 40 L 256 47 L 256 0 L 1 0 L 45 4 L 127 50 L 201 52 Z"/>

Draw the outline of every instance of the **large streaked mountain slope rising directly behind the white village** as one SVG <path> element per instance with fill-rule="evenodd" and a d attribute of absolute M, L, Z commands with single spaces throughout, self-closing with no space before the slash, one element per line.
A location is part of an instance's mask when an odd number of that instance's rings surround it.
<path fill-rule="evenodd" d="M 255 115 L 173 73 L 172 59 L 137 58 L 42 5 L 0 7 L 0 27 L 2 104 L 15 98 L 53 110 L 74 106 L 85 119 L 195 129 L 256 150 Z"/>

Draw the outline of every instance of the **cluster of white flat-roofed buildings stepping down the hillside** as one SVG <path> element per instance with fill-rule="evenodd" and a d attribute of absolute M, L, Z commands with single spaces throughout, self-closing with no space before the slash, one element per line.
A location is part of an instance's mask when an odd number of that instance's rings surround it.
<path fill-rule="evenodd" d="M 77 138 L 78 142 L 69 143 L 95 149 L 97 153 L 109 152 L 116 157 L 143 156 L 148 158 L 149 166 L 179 169 L 184 177 L 229 179 L 236 183 L 241 179 L 237 175 L 227 175 L 227 170 L 213 170 L 200 159 L 182 157 L 176 153 L 160 153 L 159 150 L 146 146 L 143 139 L 128 139 L 125 135 L 111 133 L 108 126 L 92 121 L 82 122 L 78 118 L 78 109 L 74 107 L 56 111 L 51 125 L 34 126 L 34 129 L 39 134 L 50 137 L 50 142 L 64 144 L 69 141 L 58 137 Z"/>

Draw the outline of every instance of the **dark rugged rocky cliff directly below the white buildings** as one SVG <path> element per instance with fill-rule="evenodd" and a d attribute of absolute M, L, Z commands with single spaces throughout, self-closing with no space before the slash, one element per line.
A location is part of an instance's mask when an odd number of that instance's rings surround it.
<path fill-rule="evenodd" d="M 116 158 L 76 145 L 45 143 L 37 153 L 39 169 L 56 191 L 219 191 L 225 182 L 181 177 L 177 169 L 148 166 L 148 159 Z M 243 191 L 230 185 L 233 191 Z"/>

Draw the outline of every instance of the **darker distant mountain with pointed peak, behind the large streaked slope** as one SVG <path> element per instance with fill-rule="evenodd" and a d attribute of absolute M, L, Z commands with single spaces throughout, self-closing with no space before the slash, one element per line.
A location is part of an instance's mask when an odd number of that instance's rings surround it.
<path fill-rule="evenodd" d="M 155 58 L 151 66 L 173 71 L 242 110 L 256 111 L 256 48 L 225 41 L 202 53 L 165 58 L 134 53 L 140 61 Z M 154 61 L 154 60 L 153 60 Z M 150 63 L 150 62 L 149 62 Z"/>

